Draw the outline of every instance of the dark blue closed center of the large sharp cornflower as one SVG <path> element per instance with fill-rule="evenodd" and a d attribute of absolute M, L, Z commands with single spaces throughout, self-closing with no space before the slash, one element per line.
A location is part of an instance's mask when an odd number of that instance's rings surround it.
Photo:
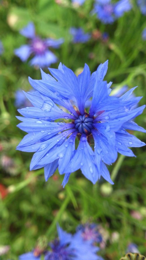
<path fill-rule="evenodd" d="M 93 118 L 88 117 L 87 115 L 79 116 L 78 119 L 74 120 L 75 128 L 78 129 L 80 134 L 89 134 L 93 128 Z"/>

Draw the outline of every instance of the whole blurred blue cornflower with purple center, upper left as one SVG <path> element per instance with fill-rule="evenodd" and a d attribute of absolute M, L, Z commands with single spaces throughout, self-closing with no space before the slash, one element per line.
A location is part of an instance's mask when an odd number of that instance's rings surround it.
<path fill-rule="evenodd" d="M 22 61 L 26 61 L 31 54 L 34 57 L 30 60 L 30 64 L 34 66 L 46 67 L 57 61 L 55 54 L 48 50 L 48 48 L 58 48 L 63 43 L 63 39 L 41 39 L 35 35 L 33 23 L 29 23 L 25 28 L 20 30 L 20 34 L 29 39 L 28 45 L 22 45 L 20 48 L 15 49 L 15 54 Z"/>

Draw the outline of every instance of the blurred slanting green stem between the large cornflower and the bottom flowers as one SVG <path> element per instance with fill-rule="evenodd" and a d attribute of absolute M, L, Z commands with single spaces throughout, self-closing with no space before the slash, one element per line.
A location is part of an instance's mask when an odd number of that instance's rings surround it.
<path fill-rule="evenodd" d="M 70 201 L 70 196 L 67 195 L 66 199 L 63 201 L 62 206 L 60 207 L 57 215 L 55 216 L 54 220 L 52 221 L 50 227 L 48 228 L 47 232 L 46 232 L 46 236 L 50 236 L 51 233 L 55 230 L 56 228 L 56 224 L 58 223 L 58 221 L 60 220 L 61 215 L 63 214 L 63 212 L 65 211 L 67 204 Z"/>

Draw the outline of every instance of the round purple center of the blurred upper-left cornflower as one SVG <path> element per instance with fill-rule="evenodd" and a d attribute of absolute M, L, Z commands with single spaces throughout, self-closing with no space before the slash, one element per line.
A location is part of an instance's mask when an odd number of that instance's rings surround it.
<path fill-rule="evenodd" d="M 44 40 L 40 39 L 39 37 L 36 37 L 32 40 L 31 46 L 35 54 L 43 54 L 47 48 Z"/>

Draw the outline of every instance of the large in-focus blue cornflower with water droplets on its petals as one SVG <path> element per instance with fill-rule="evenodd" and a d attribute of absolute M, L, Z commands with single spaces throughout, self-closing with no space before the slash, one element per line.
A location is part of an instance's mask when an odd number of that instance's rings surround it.
<path fill-rule="evenodd" d="M 109 96 L 112 82 L 103 81 L 107 66 L 108 61 L 100 64 L 91 75 L 85 64 L 77 77 L 60 63 L 58 69 L 49 69 L 53 76 L 41 70 L 42 80 L 29 78 L 36 91 L 25 95 L 34 107 L 18 110 L 24 116 L 18 117 L 22 121 L 18 127 L 28 134 L 17 149 L 35 152 L 30 170 L 44 167 L 46 181 L 58 167 L 60 174 L 65 173 L 63 186 L 70 173 L 78 169 L 93 183 L 102 176 L 113 184 L 105 164 L 114 163 L 118 152 L 135 156 L 128 147 L 145 145 L 126 131 L 146 132 L 132 121 L 145 105 L 133 109 L 141 99 L 130 98 L 136 87 L 120 98 Z M 86 111 L 85 102 L 91 97 L 90 109 Z M 71 100 L 77 107 L 72 106 Z"/>

